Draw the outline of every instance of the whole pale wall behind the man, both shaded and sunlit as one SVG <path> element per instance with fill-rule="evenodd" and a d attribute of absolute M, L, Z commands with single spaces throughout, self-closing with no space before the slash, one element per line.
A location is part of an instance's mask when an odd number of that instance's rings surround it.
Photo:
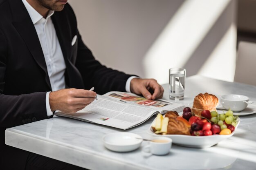
<path fill-rule="evenodd" d="M 171 67 L 234 79 L 236 0 L 69 2 L 85 44 L 107 66 L 159 83 Z"/>

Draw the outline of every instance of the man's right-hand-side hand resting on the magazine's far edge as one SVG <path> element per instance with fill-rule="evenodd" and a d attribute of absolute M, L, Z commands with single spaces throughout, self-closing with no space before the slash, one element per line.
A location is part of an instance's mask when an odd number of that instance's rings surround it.
<path fill-rule="evenodd" d="M 149 92 L 150 90 L 153 94 Z M 148 100 L 162 98 L 164 95 L 164 88 L 155 79 L 134 78 L 130 83 L 130 91 L 138 95 L 142 94 Z"/>

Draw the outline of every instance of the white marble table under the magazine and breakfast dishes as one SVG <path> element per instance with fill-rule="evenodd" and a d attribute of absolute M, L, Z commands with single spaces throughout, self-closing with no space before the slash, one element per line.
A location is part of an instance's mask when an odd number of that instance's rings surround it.
<path fill-rule="evenodd" d="M 247 95 L 256 101 L 256 86 L 224 82 L 195 75 L 186 79 L 185 99 L 193 102 L 198 93 Z M 168 84 L 164 85 L 164 99 L 168 99 Z M 209 170 L 256 169 L 256 114 L 240 117 L 234 136 L 211 148 L 186 148 L 173 145 L 165 156 L 147 156 L 141 147 L 133 152 L 112 152 L 103 146 L 102 137 L 111 132 L 134 132 L 150 137 L 146 130 L 154 117 L 128 130 L 119 130 L 65 117 L 36 121 L 5 131 L 7 145 L 28 150 L 46 157 L 65 161 L 92 170 Z"/>

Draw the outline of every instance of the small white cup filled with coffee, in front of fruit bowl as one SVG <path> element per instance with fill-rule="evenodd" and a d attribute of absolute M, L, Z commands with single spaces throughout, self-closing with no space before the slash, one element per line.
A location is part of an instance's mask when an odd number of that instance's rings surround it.
<path fill-rule="evenodd" d="M 149 145 L 144 146 L 143 152 L 154 155 L 166 155 L 170 152 L 172 141 L 168 137 L 154 137 L 149 141 Z"/>

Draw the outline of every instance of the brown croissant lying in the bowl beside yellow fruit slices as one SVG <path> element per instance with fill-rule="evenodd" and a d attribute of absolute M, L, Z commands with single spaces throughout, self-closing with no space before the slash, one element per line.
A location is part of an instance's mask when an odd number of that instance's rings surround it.
<path fill-rule="evenodd" d="M 190 135 L 190 128 L 176 118 L 169 118 L 167 134 Z"/>

